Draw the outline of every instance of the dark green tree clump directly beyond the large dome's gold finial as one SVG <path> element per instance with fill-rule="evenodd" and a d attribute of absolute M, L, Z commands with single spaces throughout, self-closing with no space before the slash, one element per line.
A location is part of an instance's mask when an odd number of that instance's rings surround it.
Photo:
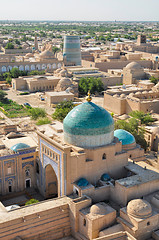
<path fill-rule="evenodd" d="M 104 84 L 100 78 L 81 78 L 79 81 L 78 90 L 81 95 L 86 95 L 88 90 L 90 90 L 92 94 L 100 93 L 104 90 Z"/>

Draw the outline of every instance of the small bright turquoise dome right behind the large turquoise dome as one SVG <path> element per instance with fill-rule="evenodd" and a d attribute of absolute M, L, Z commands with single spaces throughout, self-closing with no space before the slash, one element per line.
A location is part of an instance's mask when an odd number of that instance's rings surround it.
<path fill-rule="evenodd" d="M 135 143 L 134 136 L 131 133 L 129 133 L 123 129 L 115 130 L 114 136 L 117 137 L 119 139 L 119 141 L 122 142 L 122 145 L 128 145 L 128 144 Z"/>

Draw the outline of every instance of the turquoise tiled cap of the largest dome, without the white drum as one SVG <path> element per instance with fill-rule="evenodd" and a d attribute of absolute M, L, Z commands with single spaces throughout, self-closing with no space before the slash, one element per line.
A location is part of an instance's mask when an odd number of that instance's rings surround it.
<path fill-rule="evenodd" d="M 63 126 L 68 134 L 95 136 L 112 132 L 114 120 L 104 108 L 85 102 L 68 113 Z"/>

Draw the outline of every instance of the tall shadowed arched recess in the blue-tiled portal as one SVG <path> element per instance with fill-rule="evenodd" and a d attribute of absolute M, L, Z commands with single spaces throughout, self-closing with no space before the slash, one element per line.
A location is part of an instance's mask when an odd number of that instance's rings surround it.
<path fill-rule="evenodd" d="M 46 198 L 58 197 L 57 176 L 50 164 L 45 167 L 45 186 Z"/>

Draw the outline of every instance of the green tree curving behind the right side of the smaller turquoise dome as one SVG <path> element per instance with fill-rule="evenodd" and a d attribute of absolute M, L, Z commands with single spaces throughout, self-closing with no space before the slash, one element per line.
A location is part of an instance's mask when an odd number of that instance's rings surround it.
<path fill-rule="evenodd" d="M 125 120 L 118 120 L 115 122 L 115 129 L 124 129 L 130 132 L 145 151 L 147 149 L 147 142 L 144 139 L 144 128 L 139 127 L 139 121 L 135 118 L 130 118 L 128 122 Z"/>

